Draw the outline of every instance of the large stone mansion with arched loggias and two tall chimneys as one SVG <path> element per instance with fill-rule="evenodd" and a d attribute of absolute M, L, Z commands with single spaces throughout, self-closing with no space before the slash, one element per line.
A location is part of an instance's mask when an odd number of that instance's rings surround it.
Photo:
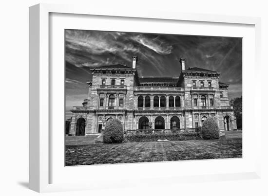
<path fill-rule="evenodd" d="M 73 107 L 69 135 L 100 133 L 111 118 L 124 130 L 197 128 L 213 117 L 220 131 L 236 129 L 228 98 L 228 85 L 219 82 L 220 72 L 202 68 L 185 69 L 180 58 L 179 77 L 140 77 L 133 65 L 90 68 L 88 96 L 82 106 Z M 176 124 L 172 124 L 175 121 Z"/>

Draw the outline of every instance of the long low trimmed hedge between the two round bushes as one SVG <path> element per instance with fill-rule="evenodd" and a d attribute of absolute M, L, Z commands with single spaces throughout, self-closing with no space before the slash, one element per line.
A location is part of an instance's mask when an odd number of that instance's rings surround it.
<path fill-rule="evenodd" d="M 124 142 L 155 142 L 157 140 L 170 140 L 170 141 L 182 141 L 182 140 L 201 140 L 199 133 L 136 133 L 125 134 Z"/>

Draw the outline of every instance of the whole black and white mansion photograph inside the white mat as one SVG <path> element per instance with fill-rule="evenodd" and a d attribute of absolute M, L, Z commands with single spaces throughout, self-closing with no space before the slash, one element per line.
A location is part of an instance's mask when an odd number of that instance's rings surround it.
<path fill-rule="evenodd" d="M 64 33 L 65 166 L 242 158 L 242 37 Z"/>

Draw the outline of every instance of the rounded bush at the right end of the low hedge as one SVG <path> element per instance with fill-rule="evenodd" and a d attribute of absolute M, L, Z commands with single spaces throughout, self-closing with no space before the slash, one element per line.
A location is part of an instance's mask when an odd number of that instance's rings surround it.
<path fill-rule="evenodd" d="M 201 135 L 205 140 L 219 139 L 219 127 L 213 118 L 210 117 L 204 121 L 201 128 Z"/>

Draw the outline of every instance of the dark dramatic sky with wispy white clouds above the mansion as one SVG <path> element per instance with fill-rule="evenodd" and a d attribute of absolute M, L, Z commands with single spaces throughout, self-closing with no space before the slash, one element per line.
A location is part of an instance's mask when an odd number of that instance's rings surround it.
<path fill-rule="evenodd" d="M 188 67 L 221 71 L 229 97 L 242 95 L 242 38 L 66 30 L 66 117 L 87 98 L 89 67 L 127 64 L 137 55 L 139 76 L 178 77 Z"/>

